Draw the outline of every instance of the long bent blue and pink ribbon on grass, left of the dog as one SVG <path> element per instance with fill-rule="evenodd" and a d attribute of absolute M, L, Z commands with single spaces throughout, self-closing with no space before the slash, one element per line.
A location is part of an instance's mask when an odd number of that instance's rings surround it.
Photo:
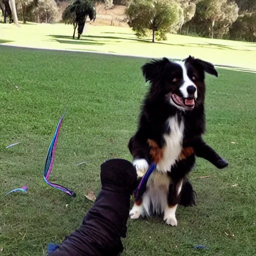
<path fill-rule="evenodd" d="M 43 179 L 48 185 L 50 185 L 50 186 L 52 186 L 56 189 L 59 189 L 59 190 L 65 192 L 65 193 L 67 193 L 68 195 L 74 197 L 75 192 L 73 192 L 72 190 L 70 190 L 70 189 L 68 189 L 64 186 L 61 186 L 59 184 L 55 184 L 55 183 L 52 183 L 52 182 L 49 181 L 49 175 L 50 175 L 50 172 L 51 172 L 51 169 L 52 169 L 52 166 L 53 166 L 53 161 L 54 161 L 54 156 L 55 156 L 55 149 L 56 149 L 56 144 L 57 144 L 57 140 L 58 140 L 58 133 L 59 133 L 59 129 L 60 129 L 61 124 L 62 124 L 63 117 L 64 117 L 64 113 L 62 114 L 61 118 L 58 121 L 58 124 L 57 124 L 57 127 L 55 129 L 53 138 L 50 142 L 50 145 L 49 145 L 49 148 L 48 148 L 48 151 L 47 151 L 45 165 L 44 165 Z"/>

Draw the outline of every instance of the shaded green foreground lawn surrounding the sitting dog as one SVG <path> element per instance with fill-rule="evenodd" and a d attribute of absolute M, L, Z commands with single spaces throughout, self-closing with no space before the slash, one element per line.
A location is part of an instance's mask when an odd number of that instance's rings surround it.
<path fill-rule="evenodd" d="M 5 46 L 0 56 L 0 255 L 46 255 L 47 243 L 60 242 L 92 206 L 84 194 L 98 193 L 99 165 L 131 160 L 127 142 L 147 90 L 140 71 L 146 59 Z M 198 159 L 191 174 L 197 206 L 177 209 L 177 227 L 157 217 L 129 220 L 124 256 L 256 254 L 256 74 L 218 71 L 218 78 L 206 78 L 204 138 L 229 167 Z M 76 198 L 43 181 L 65 107 L 51 180 Z M 21 185 L 27 194 L 4 196 Z M 193 249 L 197 244 L 209 249 Z"/>

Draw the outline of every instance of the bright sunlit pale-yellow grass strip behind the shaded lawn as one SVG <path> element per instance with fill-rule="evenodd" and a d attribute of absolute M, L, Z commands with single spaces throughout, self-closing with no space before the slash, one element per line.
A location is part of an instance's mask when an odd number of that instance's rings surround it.
<path fill-rule="evenodd" d="M 66 50 L 91 50 L 150 57 L 184 58 L 189 54 L 215 64 L 255 68 L 256 43 L 168 34 L 168 40 L 139 40 L 130 28 L 87 24 L 80 40 L 73 40 L 72 25 L 0 24 L 0 39 L 6 44 Z M 1 41 L 0 41 L 1 42 Z"/>

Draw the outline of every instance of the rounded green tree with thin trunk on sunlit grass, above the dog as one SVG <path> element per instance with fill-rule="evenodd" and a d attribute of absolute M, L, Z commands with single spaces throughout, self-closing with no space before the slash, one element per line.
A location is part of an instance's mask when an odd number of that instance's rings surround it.
<path fill-rule="evenodd" d="M 173 0 L 132 0 L 125 14 L 136 36 L 146 36 L 151 30 L 154 42 L 155 35 L 164 39 L 170 26 L 178 21 L 178 7 Z"/>

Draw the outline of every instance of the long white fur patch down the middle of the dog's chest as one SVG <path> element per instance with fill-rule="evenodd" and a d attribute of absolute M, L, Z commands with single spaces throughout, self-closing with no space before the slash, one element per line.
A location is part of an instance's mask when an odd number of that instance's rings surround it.
<path fill-rule="evenodd" d="M 163 149 L 163 157 L 156 165 L 159 171 L 170 171 L 170 167 L 175 163 L 182 149 L 182 139 L 184 131 L 184 120 L 178 122 L 177 115 L 169 117 L 167 120 L 170 132 L 163 136 L 165 145 Z"/>

